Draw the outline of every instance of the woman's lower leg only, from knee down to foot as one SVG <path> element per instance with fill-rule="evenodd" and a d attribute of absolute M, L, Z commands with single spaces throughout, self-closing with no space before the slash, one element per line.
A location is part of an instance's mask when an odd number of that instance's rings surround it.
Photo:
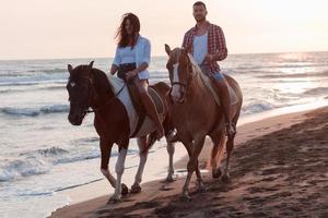
<path fill-rule="evenodd" d="M 147 92 L 140 93 L 140 98 L 141 98 L 142 105 L 143 105 L 148 116 L 150 116 L 152 121 L 157 126 L 156 138 L 160 140 L 164 135 L 164 129 L 163 129 L 162 122 L 160 120 L 160 116 L 157 113 L 156 106 L 155 106 L 153 99 L 150 97 L 150 95 Z"/>

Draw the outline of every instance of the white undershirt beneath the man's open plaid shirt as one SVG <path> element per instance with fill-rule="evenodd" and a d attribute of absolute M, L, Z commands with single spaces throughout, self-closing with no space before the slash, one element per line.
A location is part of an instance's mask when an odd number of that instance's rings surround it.
<path fill-rule="evenodd" d="M 208 32 L 200 36 L 195 36 L 194 39 L 194 59 L 197 64 L 201 64 L 208 53 Z"/>

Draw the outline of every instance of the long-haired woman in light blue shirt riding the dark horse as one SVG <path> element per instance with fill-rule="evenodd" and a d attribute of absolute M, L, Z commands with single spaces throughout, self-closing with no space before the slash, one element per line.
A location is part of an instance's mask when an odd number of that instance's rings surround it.
<path fill-rule="evenodd" d="M 157 138 L 164 135 L 164 130 L 152 98 L 148 94 L 148 66 L 150 63 L 150 41 L 140 36 L 140 22 L 137 15 L 127 13 L 122 16 L 116 37 L 118 45 L 110 73 L 118 71 L 118 76 L 132 82 L 138 89 L 142 105 L 152 121 L 157 126 Z"/>

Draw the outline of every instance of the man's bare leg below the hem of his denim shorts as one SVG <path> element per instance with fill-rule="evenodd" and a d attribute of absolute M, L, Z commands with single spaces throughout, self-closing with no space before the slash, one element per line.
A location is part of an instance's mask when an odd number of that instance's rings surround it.
<path fill-rule="evenodd" d="M 222 86 L 221 84 L 218 84 L 219 82 L 215 81 L 216 86 L 219 87 L 220 90 L 220 99 L 223 108 L 223 113 L 225 118 L 225 130 L 226 130 L 226 135 L 229 138 L 232 138 L 235 134 L 235 126 L 233 125 L 231 119 L 231 99 L 230 99 L 230 92 L 229 87 Z"/>

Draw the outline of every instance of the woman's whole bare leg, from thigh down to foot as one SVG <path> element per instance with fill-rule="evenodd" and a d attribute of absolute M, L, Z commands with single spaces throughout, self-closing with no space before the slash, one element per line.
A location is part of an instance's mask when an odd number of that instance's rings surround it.
<path fill-rule="evenodd" d="M 159 117 L 159 113 L 156 110 L 156 106 L 155 106 L 153 99 L 151 98 L 151 96 L 148 94 L 148 82 L 147 82 L 147 80 L 140 80 L 137 76 L 134 80 L 134 84 L 137 86 L 138 93 L 140 95 L 142 105 L 143 105 L 147 113 L 150 116 L 152 121 L 157 126 L 157 140 L 160 140 L 164 135 L 164 129 L 163 129 L 162 122 L 160 120 L 160 117 Z"/>

